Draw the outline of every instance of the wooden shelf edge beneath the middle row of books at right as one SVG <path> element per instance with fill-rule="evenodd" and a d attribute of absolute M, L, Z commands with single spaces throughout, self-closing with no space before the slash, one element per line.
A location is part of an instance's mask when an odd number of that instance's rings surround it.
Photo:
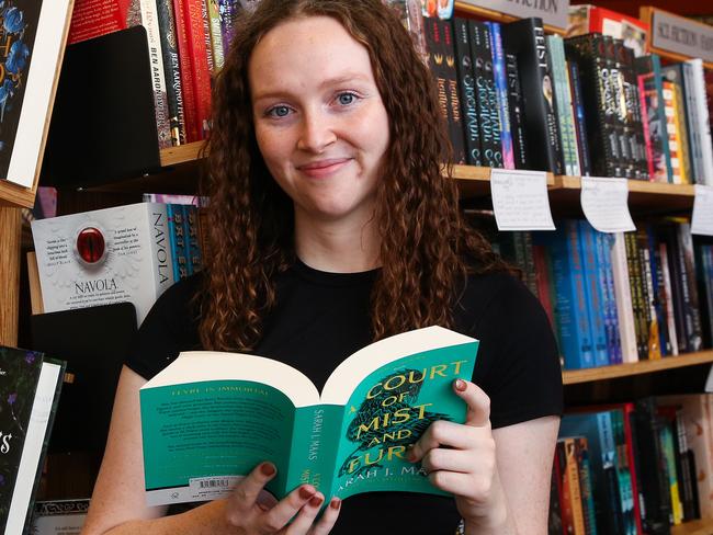
<path fill-rule="evenodd" d="M 656 361 L 640 361 L 631 364 L 616 364 L 586 369 L 570 369 L 563 372 L 562 380 L 565 385 L 591 383 L 595 380 L 615 379 L 631 375 L 650 374 L 698 364 L 713 363 L 713 350 L 689 353 L 678 356 L 666 356 Z M 713 531 L 711 531 L 713 534 Z"/>

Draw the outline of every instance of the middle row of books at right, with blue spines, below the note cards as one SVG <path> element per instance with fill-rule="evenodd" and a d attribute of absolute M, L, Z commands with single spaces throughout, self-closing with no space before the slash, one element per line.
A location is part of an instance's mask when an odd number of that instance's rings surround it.
<path fill-rule="evenodd" d="M 495 239 L 547 311 L 565 369 L 712 346 L 713 244 L 694 243 L 687 221 L 608 235 L 569 219 Z"/>

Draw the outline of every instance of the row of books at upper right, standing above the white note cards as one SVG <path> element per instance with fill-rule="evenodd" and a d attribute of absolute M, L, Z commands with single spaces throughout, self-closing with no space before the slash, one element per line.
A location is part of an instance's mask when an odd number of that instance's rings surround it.
<path fill-rule="evenodd" d="M 700 59 L 661 67 L 599 33 L 423 21 L 453 162 L 567 175 L 713 183 Z"/>

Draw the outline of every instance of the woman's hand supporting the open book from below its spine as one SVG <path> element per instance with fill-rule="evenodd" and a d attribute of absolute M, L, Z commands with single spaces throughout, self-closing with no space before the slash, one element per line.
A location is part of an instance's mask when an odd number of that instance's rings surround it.
<path fill-rule="evenodd" d="M 264 486 L 276 474 L 274 465 L 262 463 L 242 478 L 225 500 L 225 517 L 236 534 L 327 535 L 337 522 L 341 501 L 331 500 L 315 522 L 325 497 L 312 485 L 301 485 L 276 501 Z M 290 521 L 294 517 L 292 523 Z"/>

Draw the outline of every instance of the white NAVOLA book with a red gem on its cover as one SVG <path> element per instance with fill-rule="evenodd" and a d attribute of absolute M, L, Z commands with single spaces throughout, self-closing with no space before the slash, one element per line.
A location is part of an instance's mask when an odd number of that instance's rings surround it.
<path fill-rule="evenodd" d="M 45 312 L 129 301 L 140 325 L 174 281 L 168 232 L 158 203 L 33 221 Z"/>

